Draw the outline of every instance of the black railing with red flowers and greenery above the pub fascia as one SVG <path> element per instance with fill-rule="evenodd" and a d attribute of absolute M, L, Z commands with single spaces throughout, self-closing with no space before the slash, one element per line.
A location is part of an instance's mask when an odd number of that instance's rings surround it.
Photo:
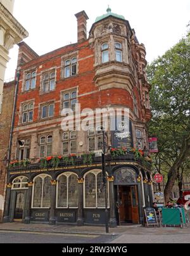
<path fill-rule="evenodd" d="M 144 165 L 144 167 L 150 168 L 151 163 L 147 162 L 144 157 L 142 158 L 136 158 L 134 153 L 126 153 L 125 155 L 122 156 L 112 156 L 112 155 L 106 155 L 105 156 L 105 162 L 110 163 L 110 162 L 139 162 L 141 165 Z M 90 160 L 88 158 L 82 158 L 82 157 L 73 157 L 73 158 L 66 158 L 66 159 L 61 159 L 58 163 L 55 163 L 51 160 L 47 162 L 41 162 L 39 160 L 31 160 L 31 163 L 28 163 L 27 165 L 15 165 L 8 167 L 8 170 L 10 172 L 13 171 L 22 171 L 22 170 L 39 170 L 39 169 L 61 169 L 63 167 L 82 167 L 84 165 L 94 165 L 94 164 L 99 164 L 102 162 L 101 157 L 95 157 L 93 156 Z"/>

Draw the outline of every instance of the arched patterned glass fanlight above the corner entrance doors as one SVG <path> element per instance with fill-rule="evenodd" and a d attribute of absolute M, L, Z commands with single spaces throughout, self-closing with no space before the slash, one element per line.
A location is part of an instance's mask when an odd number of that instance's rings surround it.
<path fill-rule="evenodd" d="M 121 168 L 115 173 L 115 184 L 136 183 L 136 173 L 129 168 Z"/>

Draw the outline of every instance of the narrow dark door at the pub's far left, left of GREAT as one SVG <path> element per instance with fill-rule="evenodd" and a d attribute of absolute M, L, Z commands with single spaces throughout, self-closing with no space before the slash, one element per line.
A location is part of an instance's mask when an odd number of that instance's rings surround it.
<path fill-rule="evenodd" d="M 14 221 L 22 221 L 24 198 L 24 192 L 16 192 Z"/>

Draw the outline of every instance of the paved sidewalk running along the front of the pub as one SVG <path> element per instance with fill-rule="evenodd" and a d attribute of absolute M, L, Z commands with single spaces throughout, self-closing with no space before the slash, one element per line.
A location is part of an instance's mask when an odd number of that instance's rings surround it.
<path fill-rule="evenodd" d="M 39 233 L 66 233 L 66 234 L 106 234 L 105 227 L 98 226 L 68 226 L 58 225 L 49 226 L 48 224 L 22 224 L 20 222 L 0 223 L 0 231 L 28 231 Z M 133 235 L 189 235 L 190 240 L 190 224 L 186 229 L 180 227 L 142 227 L 141 225 L 118 226 L 109 229 L 109 234 L 133 234 Z"/>

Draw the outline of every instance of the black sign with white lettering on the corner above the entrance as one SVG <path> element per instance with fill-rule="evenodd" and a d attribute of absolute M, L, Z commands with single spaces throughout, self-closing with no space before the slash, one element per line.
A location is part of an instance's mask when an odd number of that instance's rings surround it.
<path fill-rule="evenodd" d="M 129 119 L 111 118 L 112 148 L 133 148 L 132 123 Z"/>

